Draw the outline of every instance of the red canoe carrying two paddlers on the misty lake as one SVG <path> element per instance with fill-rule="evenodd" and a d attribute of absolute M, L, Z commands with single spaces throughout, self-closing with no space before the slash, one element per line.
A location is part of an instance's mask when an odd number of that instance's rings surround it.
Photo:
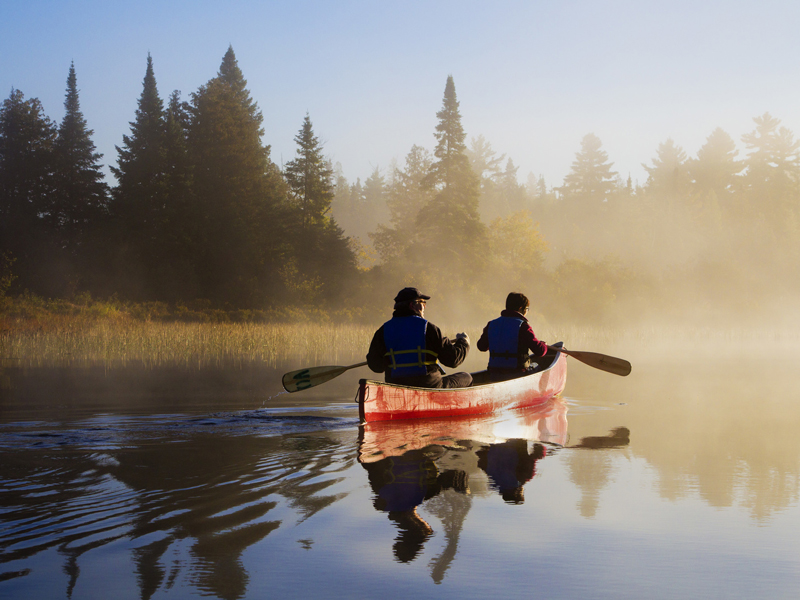
<path fill-rule="evenodd" d="M 473 373 L 472 386 L 468 388 L 416 388 L 362 379 L 358 388 L 359 416 L 362 423 L 369 423 L 481 415 L 539 406 L 564 390 L 567 359 L 561 352 L 551 352 L 537 362 L 533 373 L 507 381 L 491 382 L 486 371 Z"/>

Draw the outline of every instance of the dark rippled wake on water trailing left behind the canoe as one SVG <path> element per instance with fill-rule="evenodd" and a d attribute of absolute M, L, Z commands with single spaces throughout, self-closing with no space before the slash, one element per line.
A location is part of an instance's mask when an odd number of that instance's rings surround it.
<path fill-rule="evenodd" d="M 0 562 L 50 548 L 74 562 L 127 539 L 146 558 L 141 569 L 163 571 L 176 545 L 246 547 L 287 515 L 303 519 L 340 497 L 326 490 L 352 464 L 352 443 L 321 438 L 352 430 L 354 439 L 356 425 L 286 409 L 0 425 Z M 17 566 L 2 578 L 27 575 Z"/>

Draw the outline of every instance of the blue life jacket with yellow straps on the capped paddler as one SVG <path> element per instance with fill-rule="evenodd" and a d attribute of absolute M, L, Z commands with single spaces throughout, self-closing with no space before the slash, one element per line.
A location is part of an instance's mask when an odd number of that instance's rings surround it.
<path fill-rule="evenodd" d="M 383 342 L 392 377 L 427 375 L 438 354 L 425 348 L 428 322 L 422 317 L 393 317 L 383 324 Z"/>

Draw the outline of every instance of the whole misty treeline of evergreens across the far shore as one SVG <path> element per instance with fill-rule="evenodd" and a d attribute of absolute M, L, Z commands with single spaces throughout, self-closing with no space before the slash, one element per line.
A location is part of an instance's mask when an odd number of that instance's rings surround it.
<path fill-rule="evenodd" d="M 488 318 L 517 290 L 546 318 L 598 323 L 763 313 L 800 289 L 800 142 L 769 114 L 743 159 L 721 129 L 696 158 L 667 140 L 643 187 L 588 134 L 549 188 L 521 184 L 482 136 L 467 146 L 448 77 L 433 152 L 350 183 L 308 115 L 295 158 L 271 160 L 233 49 L 188 101 L 161 98 L 148 56 L 109 187 L 74 65 L 65 109 L 56 124 L 19 90 L 0 109 L 0 299 L 374 319 L 417 285 L 454 319 Z"/>

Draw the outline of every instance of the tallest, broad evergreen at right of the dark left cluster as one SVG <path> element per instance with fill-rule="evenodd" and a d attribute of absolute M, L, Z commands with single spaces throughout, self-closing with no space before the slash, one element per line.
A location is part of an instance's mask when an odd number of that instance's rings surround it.
<path fill-rule="evenodd" d="M 282 291 L 286 186 L 261 144 L 262 122 L 228 48 L 217 76 L 192 95 L 187 136 L 197 294 L 212 301 L 264 306 Z"/>

